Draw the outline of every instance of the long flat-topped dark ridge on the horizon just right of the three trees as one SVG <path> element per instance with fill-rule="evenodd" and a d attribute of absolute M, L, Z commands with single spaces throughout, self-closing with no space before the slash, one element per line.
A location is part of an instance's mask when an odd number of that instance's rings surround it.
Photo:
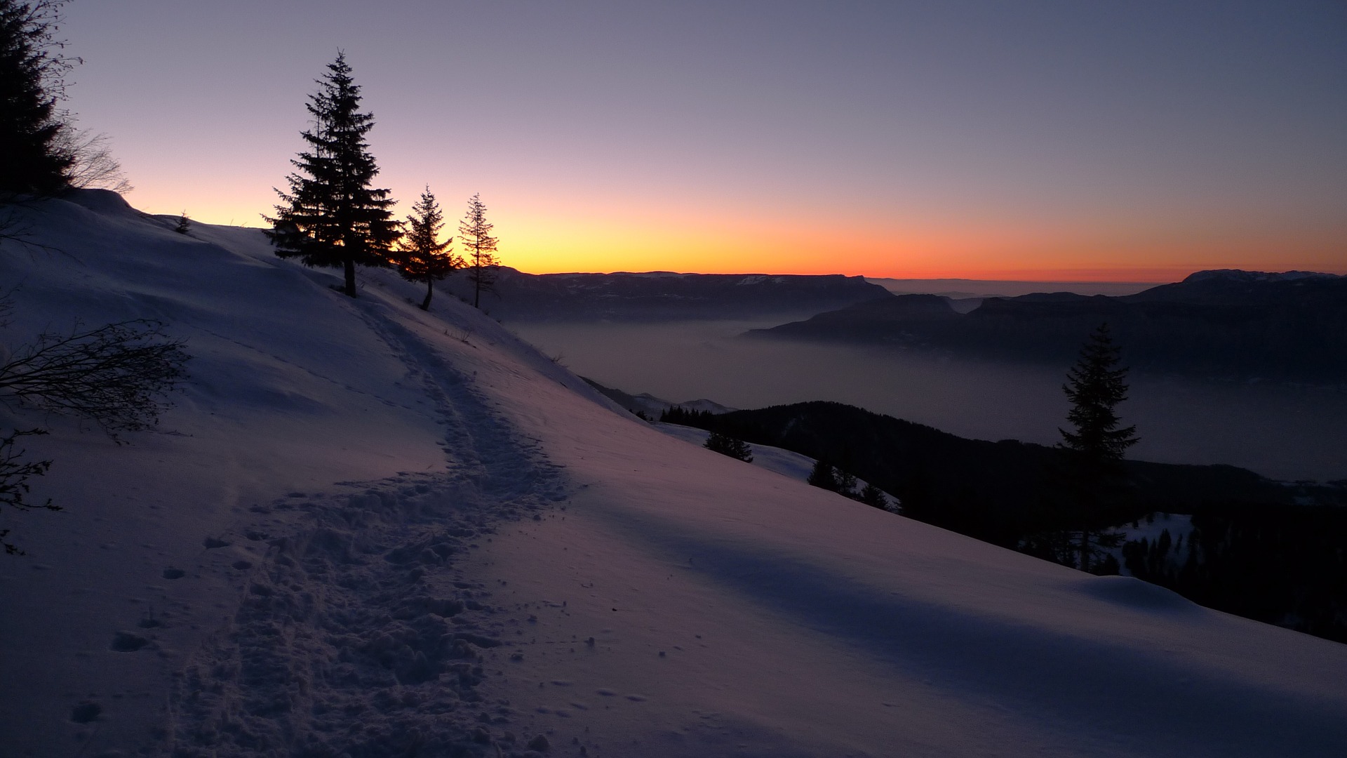
<path fill-rule="evenodd" d="M 466 294 L 462 276 L 439 287 Z M 713 320 L 799 317 L 886 295 L 862 276 L 841 274 L 524 274 L 504 267 L 482 308 L 506 321 Z"/>

